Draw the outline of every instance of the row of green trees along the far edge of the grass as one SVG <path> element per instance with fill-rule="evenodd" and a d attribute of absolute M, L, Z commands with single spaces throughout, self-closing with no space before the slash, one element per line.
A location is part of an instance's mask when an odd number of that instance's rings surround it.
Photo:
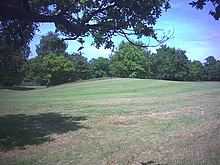
<path fill-rule="evenodd" d="M 82 53 L 66 53 L 66 48 L 67 44 L 56 34 L 43 36 L 37 45 L 38 55 L 23 63 L 16 84 L 50 86 L 101 77 L 220 80 L 220 61 L 213 56 L 207 57 L 204 63 L 190 61 L 186 51 L 166 45 L 151 53 L 129 42 L 122 42 L 109 58 L 99 57 L 90 61 Z"/>

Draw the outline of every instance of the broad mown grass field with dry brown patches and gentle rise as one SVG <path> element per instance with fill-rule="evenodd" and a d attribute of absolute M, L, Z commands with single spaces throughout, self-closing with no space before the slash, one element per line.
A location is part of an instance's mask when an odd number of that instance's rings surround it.
<path fill-rule="evenodd" d="M 220 164 L 220 82 L 0 89 L 0 164 L 141 163 Z"/>

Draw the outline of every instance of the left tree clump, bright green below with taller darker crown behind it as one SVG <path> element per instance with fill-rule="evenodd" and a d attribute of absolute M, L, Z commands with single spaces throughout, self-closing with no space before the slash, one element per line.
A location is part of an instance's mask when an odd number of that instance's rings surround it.
<path fill-rule="evenodd" d="M 67 44 L 56 34 L 49 32 L 42 36 L 37 45 L 38 56 L 25 65 L 26 76 L 24 83 L 40 85 L 57 85 L 74 80 L 76 71 L 68 54 L 65 52 Z"/>

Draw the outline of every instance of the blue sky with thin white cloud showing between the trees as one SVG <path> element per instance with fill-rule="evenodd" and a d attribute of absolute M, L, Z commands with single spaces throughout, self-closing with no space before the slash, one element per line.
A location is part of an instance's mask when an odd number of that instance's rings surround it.
<path fill-rule="evenodd" d="M 204 62 L 208 56 L 214 56 L 220 60 L 220 20 L 216 21 L 209 15 L 211 5 L 207 4 L 203 10 L 196 10 L 189 5 L 192 0 L 170 0 L 171 9 L 163 12 L 162 16 L 157 20 L 156 29 L 163 29 L 165 33 L 174 32 L 173 37 L 165 44 L 177 49 L 186 50 L 189 60 L 199 60 Z M 49 31 L 55 31 L 53 23 L 44 23 L 40 26 L 40 31 L 36 33 L 30 43 L 31 58 L 36 56 L 36 45 L 40 43 L 42 35 L 46 35 Z M 125 38 L 115 37 L 115 46 L 117 47 Z M 108 58 L 112 53 L 109 49 L 103 47 L 97 49 L 91 46 L 92 38 L 85 38 L 83 55 L 88 58 L 105 57 Z M 148 43 L 148 38 L 141 40 Z M 76 41 L 67 41 L 67 52 L 77 52 L 81 46 Z M 156 52 L 159 47 L 148 48 L 151 52 Z"/>

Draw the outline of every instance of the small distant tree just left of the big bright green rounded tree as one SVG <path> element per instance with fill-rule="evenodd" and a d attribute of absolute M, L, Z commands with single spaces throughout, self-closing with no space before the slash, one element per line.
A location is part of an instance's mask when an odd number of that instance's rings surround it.
<path fill-rule="evenodd" d="M 98 59 L 91 59 L 90 60 L 90 70 L 91 76 L 93 78 L 99 77 L 108 77 L 110 76 L 110 60 L 108 58 L 99 57 Z"/>

